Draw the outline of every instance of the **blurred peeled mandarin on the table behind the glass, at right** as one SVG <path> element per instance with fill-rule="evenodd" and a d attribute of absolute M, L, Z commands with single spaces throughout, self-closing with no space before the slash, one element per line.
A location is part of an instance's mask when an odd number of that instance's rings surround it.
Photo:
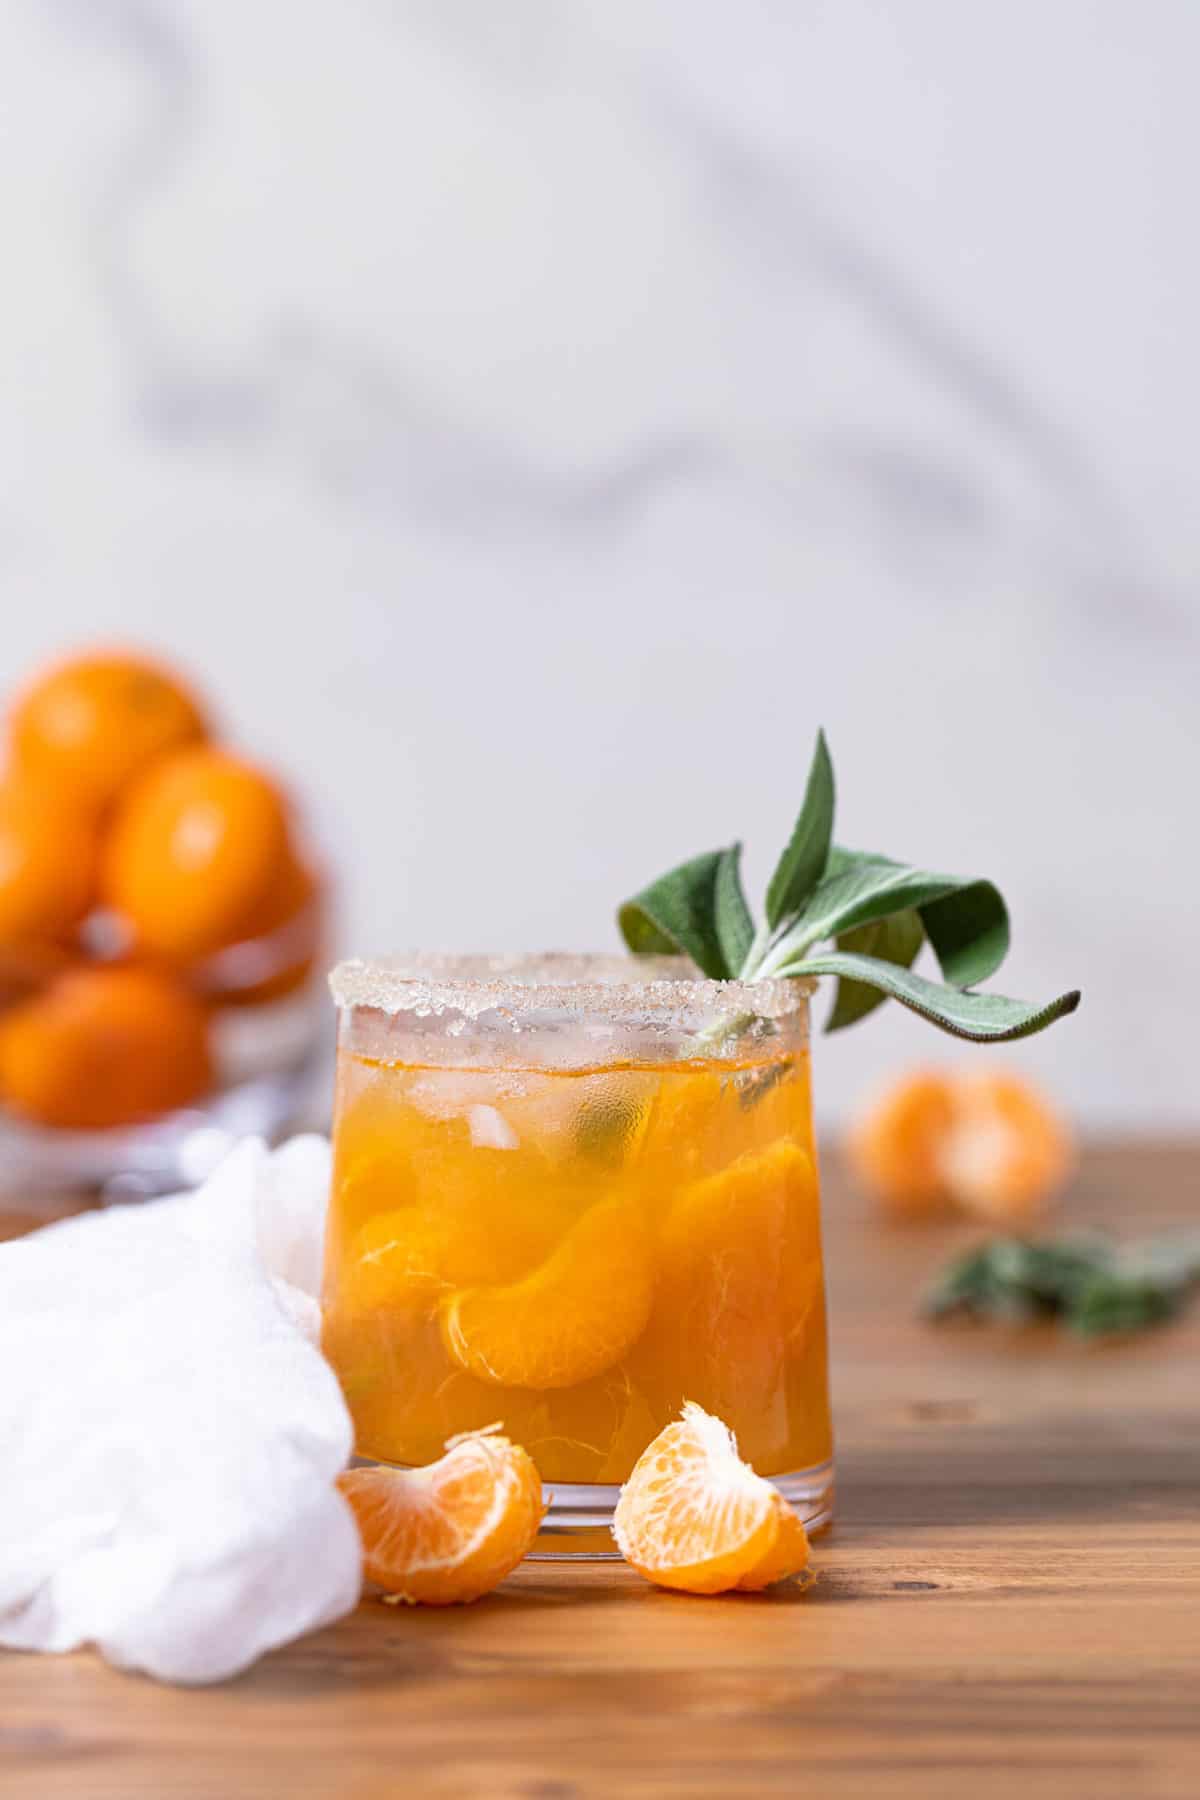
<path fill-rule="evenodd" d="M 894 1213 L 957 1204 L 1027 1219 L 1070 1174 L 1070 1132 L 1038 1089 L 1002 1069 L 919 1071 L 889 1087 L 849 1136 L 864 1186 Z"/>

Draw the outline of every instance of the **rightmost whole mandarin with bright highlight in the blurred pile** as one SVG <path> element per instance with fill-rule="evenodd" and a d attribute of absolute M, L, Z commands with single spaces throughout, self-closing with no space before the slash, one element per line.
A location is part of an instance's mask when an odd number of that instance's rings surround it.
<path fill-rule="evenodd" d="M 290 855 L 279 787 L 225 751 L 164 758 L 112 823 L 101 886 L 140 949 L 193 961 L 239 943 Z"/>

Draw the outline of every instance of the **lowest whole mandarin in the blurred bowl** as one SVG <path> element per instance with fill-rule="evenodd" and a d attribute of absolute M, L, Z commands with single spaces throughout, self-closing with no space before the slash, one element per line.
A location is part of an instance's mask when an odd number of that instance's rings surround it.
<path fill-rule="evenodd" d="M 0 1098 L 41 1125 L 131 1125 L 210 1085 L 207 1012 L 166 970 L 76 968 L 0 1017 Z"/>

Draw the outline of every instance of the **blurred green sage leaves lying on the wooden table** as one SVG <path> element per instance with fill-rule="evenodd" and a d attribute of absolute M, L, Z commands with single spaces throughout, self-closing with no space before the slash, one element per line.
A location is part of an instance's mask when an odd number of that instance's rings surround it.
<path fill-rule="evenodd" d="M 925 1316 L 1006 1325 L 1056 1318 L 1076 1337 L 1108 1337 L 1173 1319 L 1196 1283 L 1196 1231 L 1133 1244 L 1101 1233 L 993 1238 L 943 1271 Z"/>

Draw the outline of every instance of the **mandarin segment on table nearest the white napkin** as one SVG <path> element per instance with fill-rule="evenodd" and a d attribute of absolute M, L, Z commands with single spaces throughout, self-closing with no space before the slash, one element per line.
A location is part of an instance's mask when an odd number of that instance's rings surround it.
<path fill-rule="evenodd" d="M 479 1600 L 533 1548 L 545 1507 L 531 1458 L 500 1431 L 452 1438 L 426 1469 L 349 1469 L 367 1579 L 421 1606 Z"/>

